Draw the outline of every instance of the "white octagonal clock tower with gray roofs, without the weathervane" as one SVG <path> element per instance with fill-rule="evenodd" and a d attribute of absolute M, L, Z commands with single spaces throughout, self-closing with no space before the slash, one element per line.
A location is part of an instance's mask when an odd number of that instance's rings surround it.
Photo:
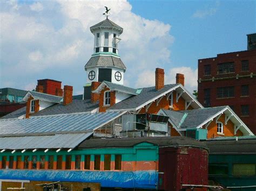
<path fill-rule="evenodd" d="M 118 55 L 119 35 L 123 28 L 106 18 L 90 30 L 95 40 L 93 54 L 85 65 L 87 83 L 109 81 L 123 85 L 126 67 Z"/>

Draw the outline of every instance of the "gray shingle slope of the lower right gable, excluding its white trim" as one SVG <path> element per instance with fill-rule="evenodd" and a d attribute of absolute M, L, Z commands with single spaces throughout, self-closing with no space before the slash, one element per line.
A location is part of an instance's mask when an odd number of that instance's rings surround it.
<path fill-rule="evenodd" d="M 183 120 L 181 121 L 182 119 L 181 118 L 179 122 L 180 128 L 196 128 L 198 125 L 207 121 L 207 119 L 209 119 L 210 117 L 212 117 L 213 115 L 217 114 L 218 112 L 220 112 L 225 108 L 226 106 L 213 107 L 213 108 L 201 108 L 201 109 L 193 109 L 193 110 L 181 110 L 181 111 L 169 111 L 169 110 L 163 109 L 163 111 L 171 119 L 176 118 L 178 115 L 179 116 L 183 115 L 182 117 Z M 175 120 L 176 124 L 177 124 L 177 119 Z"/>

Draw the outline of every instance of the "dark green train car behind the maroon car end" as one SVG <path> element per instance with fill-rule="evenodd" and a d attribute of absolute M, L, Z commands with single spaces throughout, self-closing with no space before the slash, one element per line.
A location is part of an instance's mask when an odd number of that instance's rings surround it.
<path fill-rule="evenodd" d="M 231 190 L 256 190 L 256 136 L 206 140 L 208 180 Z"/>

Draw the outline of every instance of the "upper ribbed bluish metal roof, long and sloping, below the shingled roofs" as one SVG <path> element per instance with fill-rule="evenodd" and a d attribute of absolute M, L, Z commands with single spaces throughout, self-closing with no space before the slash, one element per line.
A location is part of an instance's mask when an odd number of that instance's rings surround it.
<path fill-rule="evenodd" d="M 1 119 L 0 137 L 42 133 L 87 132 L 100 128 L 123 115 L 123 112 L 76 113 L 30 117 L 28 119 Z"/>

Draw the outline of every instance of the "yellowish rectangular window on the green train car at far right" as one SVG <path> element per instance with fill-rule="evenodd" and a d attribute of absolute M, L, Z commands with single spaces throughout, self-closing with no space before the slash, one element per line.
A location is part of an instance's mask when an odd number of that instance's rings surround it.
<path fill-rule="evenodd" d="M 256 164 L 233 164 L 233 175 L 254 176 Z"/>

